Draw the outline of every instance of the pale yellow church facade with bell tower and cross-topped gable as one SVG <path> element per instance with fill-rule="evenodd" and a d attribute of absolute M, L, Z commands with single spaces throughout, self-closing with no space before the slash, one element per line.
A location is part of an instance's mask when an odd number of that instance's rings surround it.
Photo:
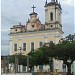
<path fill-rule="evenodd" d="M 10 28 L 10 55 L 22 53 L 27 55 L 30 51 L 42 47 L 45 43 L 59 43 L 62 38 L 62 8 L 58 0 L 45 2 L 45 24 L 41 24 L 38 14 L 33 11 L 26 25 L 14 25 Z M 61 61 L 54 62 L 54 69 L 62 71 Z M 61 65 L 61 66 L 60 66 Z"/>

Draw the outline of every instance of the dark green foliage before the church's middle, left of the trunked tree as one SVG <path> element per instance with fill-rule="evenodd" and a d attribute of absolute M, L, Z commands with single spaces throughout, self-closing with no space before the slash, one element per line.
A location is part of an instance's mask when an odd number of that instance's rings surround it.
<path fill-rule="evenodd" d="M 35 50 L 35 52 L 30 52 L 28 55 L 31 57 L 31 65 L 49 64 L 49 57 L 55 56 L 55 48 L 56 46 L 52 43 L 49 47 L 43 46 Z"/>

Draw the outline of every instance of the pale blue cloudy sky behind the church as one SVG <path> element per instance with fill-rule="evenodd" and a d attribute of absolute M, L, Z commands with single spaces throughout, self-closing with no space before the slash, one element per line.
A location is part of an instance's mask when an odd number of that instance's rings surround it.
<path fill-rule="evenodd" d="M 32 12 L 32 6 L 36 6 L 35 12 L 38 13 L 40 21 L 45 23 L 46 0 L 2 0 L 1 1 L 1 54 L 9 54 L 10 28 L 13 25 L 25 25 Z M 62 7 L 62 26 L 64 34 L 74 34 L 74 0 L 58 0 Z M 50 0 L 48 0 L 50 2 Z"/>

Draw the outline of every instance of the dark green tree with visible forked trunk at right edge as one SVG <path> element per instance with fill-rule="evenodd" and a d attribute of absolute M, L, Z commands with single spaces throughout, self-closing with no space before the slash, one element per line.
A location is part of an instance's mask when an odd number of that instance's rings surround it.
<path fill-rule="evenodd" d="M 71 64 L 75 60 L 75 41 L 64 41 L 62 44 L 58 44 L 56 47 L 56 58 L 63 60 L 64 64 L 66 64 L 68 68 L 67 75 L 71 75 Z"/>

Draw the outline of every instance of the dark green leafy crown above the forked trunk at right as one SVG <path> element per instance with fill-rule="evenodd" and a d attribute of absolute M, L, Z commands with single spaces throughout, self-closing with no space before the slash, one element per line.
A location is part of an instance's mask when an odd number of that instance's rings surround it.
<path fill-rule="evenodd" d="M 75 59 L 75 42 L 63 42 L 58 44 L 55 50 L 57 58 L 62 60 Z"/>

